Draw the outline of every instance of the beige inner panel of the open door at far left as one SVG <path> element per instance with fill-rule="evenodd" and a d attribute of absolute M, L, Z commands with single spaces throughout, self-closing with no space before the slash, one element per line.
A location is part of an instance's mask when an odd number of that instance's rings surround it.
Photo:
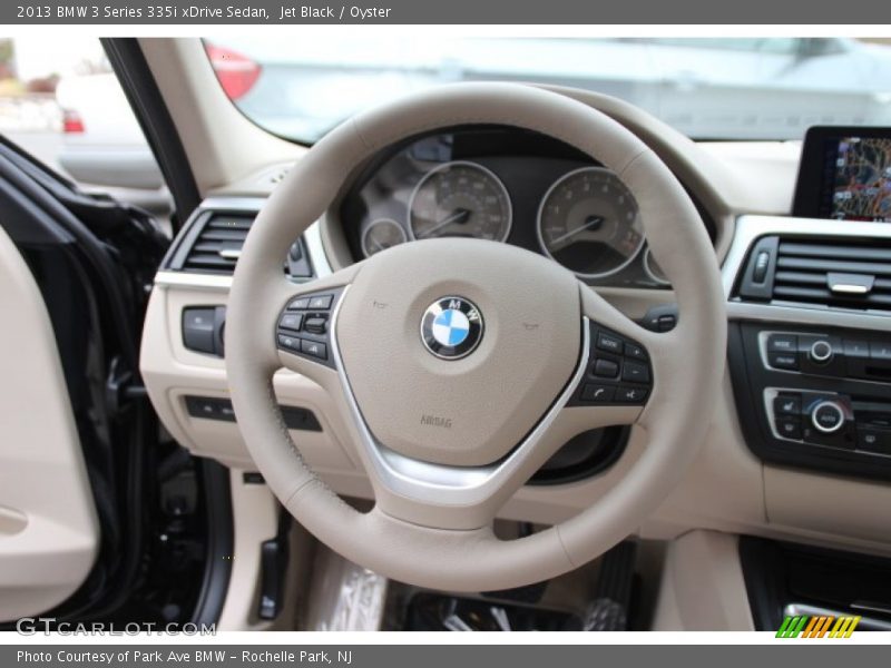
<path fill-rule="evenodd" d="M 0 229 L 0 621 L 71 596 L 99 529 L 49 314 Z"/>

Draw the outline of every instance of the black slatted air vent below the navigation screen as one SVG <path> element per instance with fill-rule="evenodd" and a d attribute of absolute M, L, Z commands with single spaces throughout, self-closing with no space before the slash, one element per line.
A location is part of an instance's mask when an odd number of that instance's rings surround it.
<path fill-rule="evenodd" d="M 891 314 L 891 243 L 764 237 L 755 245 L 740 296 Z"/>

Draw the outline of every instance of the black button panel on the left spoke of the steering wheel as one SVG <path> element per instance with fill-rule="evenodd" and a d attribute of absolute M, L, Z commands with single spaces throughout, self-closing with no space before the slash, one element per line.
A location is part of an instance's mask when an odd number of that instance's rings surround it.
<path fill-rule="evenodd" d="M 278 316 L 278 350 L 333 367 L 327 324 L 341 294 L 337 289 L 292 298 Z"/>

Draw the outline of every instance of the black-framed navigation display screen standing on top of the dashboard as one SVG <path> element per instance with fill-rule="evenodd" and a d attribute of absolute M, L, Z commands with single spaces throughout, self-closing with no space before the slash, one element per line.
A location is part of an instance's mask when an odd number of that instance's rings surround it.
<path fill-rule="evenodd" d="M 811 128 L 793 213 L 891 223 L 891 128 Z"/>

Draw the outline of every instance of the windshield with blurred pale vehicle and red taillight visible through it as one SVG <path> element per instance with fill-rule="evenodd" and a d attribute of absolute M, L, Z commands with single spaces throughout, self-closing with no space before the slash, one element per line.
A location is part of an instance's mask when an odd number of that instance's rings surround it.
<path fill-rule="evenodd" d="M 889 40 L 213 37 L 229 99 L 312 144 L 353 114 L 452 81 L 572 86 L 642 107 L 694 139 L 800 139 L 814 125 L 891 125 Z"/>

